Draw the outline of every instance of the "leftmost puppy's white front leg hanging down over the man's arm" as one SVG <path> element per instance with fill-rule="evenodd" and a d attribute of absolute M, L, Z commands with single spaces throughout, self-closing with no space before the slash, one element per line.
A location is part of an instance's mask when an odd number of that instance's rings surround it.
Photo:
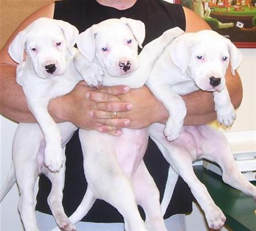
<path fill-rule="evenodd" d="M 28 97 L 28 108 L 38 122 L 45 139 L 45 166 L 51 172 L 58 172 L 63 163 L 61 136 L 56 122 L 47 111 L 47 99 Z M 43 98 L 43 97 L 42 97 Z"/>

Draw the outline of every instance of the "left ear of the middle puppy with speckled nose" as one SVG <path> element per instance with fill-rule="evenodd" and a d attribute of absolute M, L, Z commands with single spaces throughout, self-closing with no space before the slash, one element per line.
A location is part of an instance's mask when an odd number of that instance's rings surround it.
<path fill-rule="evenodd" d="M 80 33 L 76 40 L 76 45 L 78 50 L 83 54 L 83 56 L 92 62 L 95 56 L 95 35 L 96 35 L 97 25 L 92 25 L 92 27 L 86 29 L 86 31 Z"/>

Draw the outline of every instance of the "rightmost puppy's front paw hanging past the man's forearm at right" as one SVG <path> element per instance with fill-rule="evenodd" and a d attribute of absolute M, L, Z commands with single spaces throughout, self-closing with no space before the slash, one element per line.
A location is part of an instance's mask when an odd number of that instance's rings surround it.
<path fill-rule="evenodd" d="M 223 109 L 217 109 L 217 120 L 220 122 L 220 124 L 223 124 L 225 126 L 231 126 L 236 119 L 236 111 L 231 105 L 228 108 Z"/>

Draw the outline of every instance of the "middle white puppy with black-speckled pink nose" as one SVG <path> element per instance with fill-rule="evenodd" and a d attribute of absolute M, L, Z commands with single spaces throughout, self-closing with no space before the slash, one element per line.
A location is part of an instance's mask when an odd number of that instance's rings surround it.
<path fill-rule="evenodd" d="M 164 47 L 181 33 L 178 28 L 167 31 L 144 47 L 138 57 L 137 46 L 141 46 L 145 36 L 144 24 L 129 18 L 105 20 L 79 35 L 78 49 L 87 60 L 78 55 L 76 66 L 88 84 L 141 87 Z M 144 62 L 140 62 L 141 57 Z M 88 66 L 92 61 L 93 65 Z M 123 215 L 127 231 L 166 230 L 159 191 L 142 161 L 148 142 L 147 129 L 123 129 L 120 137 L 79 130 L 79 137 L 88 187 L 70 220 L 75 223 L 82 219 L 98 198 Z M 144 208 L 145 223 L 137 204 Z"/>

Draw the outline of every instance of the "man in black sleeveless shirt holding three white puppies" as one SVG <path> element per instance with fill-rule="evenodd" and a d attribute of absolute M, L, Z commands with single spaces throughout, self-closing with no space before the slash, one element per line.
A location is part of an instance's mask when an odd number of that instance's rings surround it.
<path fill-rule="evenodd" d="M 129 17 L 141 20 L 146 27 L 144 45 L 173 27 L 180 27 L 186 32 L 210 29 L 209 25 L 191 10 L 162 0 L 63 0 L 47 5 L 32 13 L 20 24 L 0 53 L 1 113 L 18 122 L 36 121 L 28 111 L 20 85 L 16 83 L 17 64 L 9 57 L 7 51 L 14 36 L 39 17 L 67 21 L 78 28 L 79 32 L 108 18 Z M 242 85 L 238 74 L 233 77 L 230 68 L 226 74 L 226 84 L 231 101 L 237 108 L 242 100 Z M 216 113 L 211 93 L 197 91 L 183 98 L 188 110 L 185 125 L 202 125 L 215 120 Z M 52 100 L 49 111 L 56 122 L 71 121 L 79 128 L 96 129 L 98 132 L 115 136 L 122 135 L 122 128 L 140 129 L 153 122 L 165 124 L 168 117 L 167 110 L 147 87 L 130 90 L 126 86 L 116 86 L 92 90 L 84 82 L 77 84 L 70 94 Z M 82 151 L 77 132 L 67 144 L 66 155 L 63 205 L 65 213 L 70 216 L 86 191 Z M 149 140 L 145 163 L 156 181 L 162 198 L 169 164 L 152 140 Z M 50 214 L 46 200 L 49 191 L 49 180 L 41 176 L 36 209 L 38 226 L 42 230 L 50 230 L 56 226 L 53 217 L 47 215 Z M 167 229 L 186 230 L 184 213 L 191 211 L 191 192 L 180 178 L 164 217 Z M 122 217 L 113 207 L 97 200 L 76 227 L 78 230 L 123 230 L 122 222 Z"/>

